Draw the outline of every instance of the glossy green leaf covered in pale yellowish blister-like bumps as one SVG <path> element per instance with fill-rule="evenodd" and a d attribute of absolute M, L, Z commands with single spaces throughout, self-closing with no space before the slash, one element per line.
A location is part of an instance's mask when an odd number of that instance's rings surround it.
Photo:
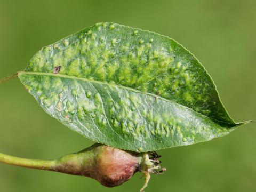
<path fill-rule="evenodd" d="M 211 77 L 182 45 L 115 23 L 43 47 L 18 75 L 48 114 L 116 148 L 191 145 L 246 123 L 229 117 Z"/>

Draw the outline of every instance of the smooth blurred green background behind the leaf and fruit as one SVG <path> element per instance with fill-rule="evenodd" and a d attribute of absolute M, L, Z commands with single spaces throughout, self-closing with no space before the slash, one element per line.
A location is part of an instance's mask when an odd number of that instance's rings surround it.
<path fill-rule="evenodd" d="M 0 0 L 0 77 L 42 46 L 110 21 L 176 39 L 203 63 L 235 121 L 256 119 L 256 1 Z M 47 115 L 18 79 L 0 85 L 0 151 L 56 158 L 93 142 Z M 159 151 L 164 175 L 150 191 L 256 191 L 256 123 L 227 137 Z M 0 164 L 0 191 L 138 191 L 140 173 L 116 188 L 90 178 Z"/>

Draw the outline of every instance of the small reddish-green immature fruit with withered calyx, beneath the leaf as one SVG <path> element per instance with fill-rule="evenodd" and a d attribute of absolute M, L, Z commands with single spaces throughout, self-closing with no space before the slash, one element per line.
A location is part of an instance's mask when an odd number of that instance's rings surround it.
<path fill-rule="evenodd" d="M 96 143 L 78 153 L 57 159 L 51 170 L 90 177 L 106 187 L 119 186 L 140 171 L 146 177 L 142 191 L 147 187 L 149 173 L 165 171 L 159 170 L 159 157 L 155 152 L 135 153 Z"/>

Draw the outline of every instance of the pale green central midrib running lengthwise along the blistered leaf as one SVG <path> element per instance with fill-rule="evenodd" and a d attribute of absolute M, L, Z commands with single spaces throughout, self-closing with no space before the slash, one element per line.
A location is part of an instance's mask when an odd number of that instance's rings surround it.
<path fill-rule="evenodd" d="M 187 106 L 183 106 L 181 105 L 180 103 L 177 103 L 177 102 L 173 102 L 171 100 L 168 100 L 168 99 L 165 99 L 163 97 L 160 97 L 159 95 L 156 95 L 156 94 L 153 94 L 153 93 L 148 93 L 148 92 L 142 92 L 142 91 L 139 91 L 137 89 L 133 89 L 133 88 L 130 88 L 130 87 L 126 87 L 126 86 L 123 86 L 123 85 L 117 85 L 117 84 L 111 84 L 111 83 L 107 83 L 107 82 L 101 82 L 101 81 L 96 81 L 96 80 L 93 80 L 93 79 L 88 79 L 88 78 L 84 78 L 84 77 L 76 77 L 76 76 L 69 76 L 69 75 L 63 75 L 63 74 L 53 74 L 53 73 L 44 73 L 44 72 L 27 72 L 27 71 L 18 71 L 18 74 L 28 74 L 28 75 L 47 75 L 47 76 L 54 76 L 54 77 L 63 77 L 63 78 L 70 78 L 70 79 L 76 79 L 76 80 L 81 80 L 81 81 L 86 81 L 86 82 L 91 82 L 91 83 L 97 83 L 97 84 L 101 84 L 101 85 L 108 85 L 108 86 L 116 86 L 116 87 L 119 87 L 121 89 L 125 89 L 125 90 L 130 90 L 130 91 L 133 91 L 135 93 L 140 93 L 140 94 L 146 94 L 146 95 L 150 95 L 151 97 L 154 97 L 156 99 L 161 99 L 163 101 L 166 101 L 166 102 L 170 102 L 170 103 L 173 103 L 175 105 L 179 105 L 179 106 L 182 106 L 182 107 L 185 107 L 189 110 L 192 110 L 194 111 L 193 109 L 190 109 L 188 108 Z M 199 115 L 202 115 L 204 117 L 207 117 L 207 118 L 210 118 L 214 121 L 218 121 L 218 122 L 222 122 L 222 123 L 226 123 L 226 124 L 230 124 L 230 125 L 238 125 L 240 123 L 228 123 L 228 122 L 223 122 L 223 121 L 220 121 L 218 119 L 214 119 L 212 117 L 208 117 L 206 115 L 203 115 L 201 113 L 198 113 L 197 111 L 194 111 L 194 113 L 197 113 Z M 245 123 L 245 122 L 242 122 L 242 123 Z"/>

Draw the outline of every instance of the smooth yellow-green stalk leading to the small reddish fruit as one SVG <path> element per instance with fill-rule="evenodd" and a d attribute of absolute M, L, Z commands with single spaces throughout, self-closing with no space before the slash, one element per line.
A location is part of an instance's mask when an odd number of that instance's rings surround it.
<path fill-rule="evenodd" d="M 50 170 L 54 171 L 57 161 L 56 160 L 38 160 L 14 157 L 0 153 L 0 163 L 6 163 L 9 165 L 16 165 L 21 167 L 28 167 L 32 169 Z"/>

